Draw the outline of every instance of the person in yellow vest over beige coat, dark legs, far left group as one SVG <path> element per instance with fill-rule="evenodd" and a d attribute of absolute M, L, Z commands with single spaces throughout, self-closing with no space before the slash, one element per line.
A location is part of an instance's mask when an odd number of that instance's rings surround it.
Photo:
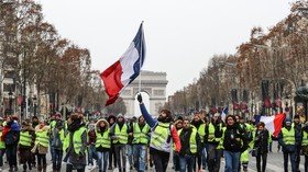
<path fill-rule="evenodd" d="M 32 152 L 36 152 L 37 156 L 37 171 L 46 172 L 46 153 L 48 152 L 50 137 L 48 137 L 50 127 L 45 125 L 44 121 L 40 122 L 40 125 L 35 127 L 35 145 L 32 149 Z"/>

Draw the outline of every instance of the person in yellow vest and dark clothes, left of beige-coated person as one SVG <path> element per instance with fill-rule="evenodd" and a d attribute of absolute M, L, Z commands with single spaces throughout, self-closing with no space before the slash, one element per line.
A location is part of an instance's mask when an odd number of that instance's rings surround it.
<path fill-rule="evenodd" d="M 20 163 L 23 164 L 23 171 L 26 171 L 26 163 L 29 170 L 32 170 L 32 153 L 31 149 L 35 141 L 35 131 L 31 124 L 23 122 L 20 131 L 19 140 L 19 152 L 20 152 Z"/>

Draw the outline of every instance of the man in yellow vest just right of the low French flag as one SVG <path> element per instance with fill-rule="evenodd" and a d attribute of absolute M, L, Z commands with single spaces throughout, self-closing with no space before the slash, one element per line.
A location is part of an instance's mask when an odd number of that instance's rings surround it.
<path fill-rule="evenodd" d="M 299 144 L 300 134 L 292 127 L 290 118 L 286 118 L 285 126 L 278 135 L 278 144 L 284 152 L 284 170 L 288 171 L 288 157 L 290 157 L 292 171 L 296 172 L 296 146 Z"/>

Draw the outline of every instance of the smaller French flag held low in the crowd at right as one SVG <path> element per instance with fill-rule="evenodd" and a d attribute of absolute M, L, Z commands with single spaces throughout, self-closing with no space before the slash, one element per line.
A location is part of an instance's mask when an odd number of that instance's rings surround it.
<path fill-rule="evenodd" d="M 273 116 L 261 116 L 255 115 L 254 119 L 257 124 L 258 122 L 263 122 L 265 124 L 265 128 L 273 134 L 273 136 L 277 137 L 279 131 L 282 130 L 283 123 L 286 118 L 286 114 L 280 113 Z"/>

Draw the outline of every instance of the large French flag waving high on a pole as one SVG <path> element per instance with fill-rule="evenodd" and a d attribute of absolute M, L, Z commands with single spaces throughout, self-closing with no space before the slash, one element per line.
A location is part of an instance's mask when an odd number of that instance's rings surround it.
<path fill-rule="evenodd" d="M 112 104 L 118 99 L 122 90 L 125 89 L 140 73 L 145 58 L 145 42 L 143 35 L 143 23 L 121 58 L 100 73 L 106 93 L 109 99 L 106 106 Z"/>

